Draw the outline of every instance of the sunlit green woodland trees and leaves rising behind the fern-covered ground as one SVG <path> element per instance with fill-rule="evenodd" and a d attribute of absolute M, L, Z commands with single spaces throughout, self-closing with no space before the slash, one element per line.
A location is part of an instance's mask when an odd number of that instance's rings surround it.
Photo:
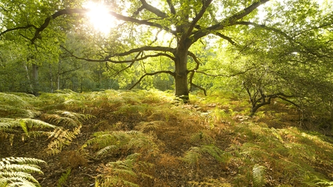
<path fill-rule="evenodd" d="M 91 89 L 84 84 L 90 71 L 100 88 L 102 79 L 108 88 L 173 87 L 184 100 L 194 89 L 228 87 L 244 89 L 253 109 L 271 98 L 330 103 L 330 1 L 103 1 L 117 20 L 107 35 L 87 24 L 86 3 L 1 1 L 3 71 L 47 67 L 51 90 L 72 71 L 72 89 Z M 40 84 L 36 74 L 26 81 L 26 90 Z"/>

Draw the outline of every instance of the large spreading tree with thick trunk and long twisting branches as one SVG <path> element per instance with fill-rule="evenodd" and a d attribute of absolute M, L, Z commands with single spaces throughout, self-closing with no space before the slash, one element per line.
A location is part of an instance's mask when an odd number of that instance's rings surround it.
<path fill-rule="evenodd" d="M 72 55 L 90 62 L 125 64 L 120 71 L 133 66 L 135 62 L 142 62 L 148 58 L 168 59 L 173 62 L 173 69 L 144 72 L 134 85 L 147 75 L 167 73 L 175 80 L 176 96 L 187 100 L 189 86 L 203 89 L 192 80 L 196 73 L 200 73 L 201 62 L 196 53 L 191 51 L 191 48 L 203 42 L 207 36 L 214 35 L 224 39 L 229 44 L 245 46 L 247 44 L 246 41 L 242 41 L 242 37 L 234 39 L 229 35 L 237 33 L 238 36 L 246 36 L 247 30 L 255 27 L 260 28 L 259 30 L 266 30 L 263 35 L 260 33 L 261 31 L 258 31 L 257 37 L 266 37 L 273 32 L 279 33 L 280 36 L 278 37 L 284 37 L 280 41 L 290 42 L 289 40 L 293 40 L 285 32 L 289 32 L 288 30 L 292 27 L 292 24 L 303 24 L 305 19 L 291 21 L 292 23 L 282 23 L 280 22 L 281 19 L 276 17 L 276 19 L 265 20 L 270 26 L 260 24 L 258 17 L 255 17 L 258 13 L 257 8 L 268 1 L 232 1 L 232 3 L 217 0 L 165 0 L 158 3 L 146 0 L 107 1 L 105 3 L 112 5 L 110 15 L 121 21 L 121 24 L 114 29 L 121 35 L 114 40 L 112 46 L 109 44 L 102 47 L 98 59 Z M 10 4 L 2 3 L 1 12 L 4 15 L 3 23 L 5 27 L 1 30 L 0 36 L 20 37 L 35 46 L 40 46 L 45 37 L 52 34 L 56 35 L 56 37 L 51 37 L 53 39 L 62 37 L 58 34 L 62 32 L 62 28 L 75 22 L 68 15 L 85 15 L 89 9 L 82 8 L 80 5 L 65 6 L 60 2 L 55 3 L 58 7 L 50 6 L 49 1 L 44 2 L 46 6 L 42 6 L 42 3 L 33 6 L 37 9 L 37 12 L 43 12 L 39 15 L 40 19 L 35 16 L 33 18 L 28 17 L 19 8 L 15 9 L 16 12 L 12 15 L 8 15 L 7 8 L 10 7 Z M 307 0 L 288 1 L 280 3 L 276 9 L 267 11 L 268 15 L 272 15 L 276 11 L 282 12 L 281 15 L 283 15 L 285 12 L 297 10 L 298 17 L 302 15 L 306 17 L 302 11 L 307 10 L 313 4 L 312 1 Z M 46 11 L 42 11 L 42 8 Z M 10 24 L 10 20 L 17 17 L 17 15 L 23 18 L 19 21 L 14 19 L 15 24 Z M 293 19 L 294 15 L 290 14 L 289 16 Z M 156 39 L 151 39 L 151 33 L 155 33 Z M 159 37 L 162 34 L 169 35 L 169 39 L 167 39 L 169 42 L 162 41 L 163 38 Z M 119 47 L 114 50 L 114 46 Z M 49 47 L 45 46 L 45 48 Z M 71 53 L 71 51 L 68 52 Z M 191 69 L 189 69 L 188 64 L 190 60 L 195 64 L 191 66 Z"/>

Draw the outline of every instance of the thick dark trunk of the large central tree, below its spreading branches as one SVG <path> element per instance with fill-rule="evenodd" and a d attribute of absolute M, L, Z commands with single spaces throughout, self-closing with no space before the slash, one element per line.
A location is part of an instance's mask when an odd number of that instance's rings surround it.
<path fill-rule="evenodd" d="M 189 87 L 187 85 L 187 53 L 189 48 L 186 45 L 178 44 L 175 60 L 175 95 L 188 102 Z"/>

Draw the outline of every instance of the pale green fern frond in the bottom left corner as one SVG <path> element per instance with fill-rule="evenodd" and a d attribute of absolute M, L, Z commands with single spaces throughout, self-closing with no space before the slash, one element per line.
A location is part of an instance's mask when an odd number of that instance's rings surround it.
<path fill-rule="evenodd" d="M 0 161 L 1 186 L 40 186 L 31 175 L 33 172 L 43 173 L 36 164 L 45 163 L 40 159 L 9 157 Z"/>

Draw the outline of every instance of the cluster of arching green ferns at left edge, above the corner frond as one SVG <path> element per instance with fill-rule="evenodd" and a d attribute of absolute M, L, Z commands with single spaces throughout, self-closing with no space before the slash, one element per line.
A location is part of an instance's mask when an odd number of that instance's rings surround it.
<path fill-rule="evenodd" d="M 92 115 L 55 110 L 56 107 L 42 114 L 38 107 L 50 102 L 50 98 L 47 96 L 36 98 L 27 94 L 0 94 L 1 106 L 3 107 L 0 113 L 0 136 L 9 139 L 10 145 L 14 143 L 15 136 L 20 136 L 22 141 L 26 141 L 27 138 L 48 136 L 50 143 L 46 152 L 58 154 L 64 145 L 69 145 L 80 133 L 81 122 L 94 117 Z M 59 102 L 60 100 L 51 102 L 57 101 Z M 57 106 L 59 104 L 56 103 Z M 67 102 L 65 106 L 73 105 L 75 106 L 76 104 Z M 37 117 L 39 119 L 36 119 Z"/>

